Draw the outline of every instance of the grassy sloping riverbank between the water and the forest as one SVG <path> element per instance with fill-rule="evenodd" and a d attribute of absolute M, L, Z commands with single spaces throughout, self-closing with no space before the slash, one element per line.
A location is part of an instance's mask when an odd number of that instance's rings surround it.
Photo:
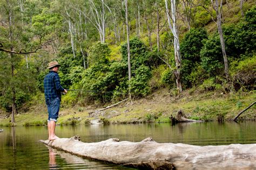
<path fill-rule="evenodd" d="M 37 96 L 37 98 L 40 96 Z M 47 124 L 47 109 L 42 99 L 36 100 L 28 112 L 16 115 L 17 126 L 41 126 Z M 203 121 L 231 120 L 239 111 L 245 109 L 256 100 L 255 91 L 223 94 L 219 91 L 200 93 L 197 90 L 183 91 L 180 95 L 173 95 L 168 89 L 158 90 L 151 95 L 130 102 L 120 103 L 115 107 L 98 111 L 95 105 L 66 107 L 62 101 L 59 112 L 59 125 L 90 124 L 92 120 L 99 120 L 105 124 L 170 122 L 169 117 L 176 116 L 179 109 L 190 119 Z M 113 103 L 112 103 L 113 104 Z M 255 120 L 256 106 L 248 109 L 239 119 Z M 10 117 L 1 114 L 1 126 L 10 126 Z"/>

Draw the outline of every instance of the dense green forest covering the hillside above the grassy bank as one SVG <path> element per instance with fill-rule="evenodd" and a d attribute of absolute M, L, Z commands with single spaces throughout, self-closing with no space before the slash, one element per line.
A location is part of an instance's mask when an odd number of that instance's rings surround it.
<path fill-rule="evenodd" d="M 67 107 L 253 91 L 255 26 L 253 0 L 0 0 L 0 112 L 44 100 L 50 61 Z"/>

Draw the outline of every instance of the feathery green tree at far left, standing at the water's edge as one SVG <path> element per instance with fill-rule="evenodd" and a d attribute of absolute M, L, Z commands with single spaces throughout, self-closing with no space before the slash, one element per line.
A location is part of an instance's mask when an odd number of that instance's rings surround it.
<path fill-rule="evenodd" d="M 6 89 L 2 94 L 5 102 L 8 102 L 8 98 L 11 103 L 11 123 L 15 123 L 15 114 L 17 112 L 17 93 L 24 90 L 24 86 L 29 87 L 29 84 L 25 79 L 30 78 L 28 72 L 22 70 L 22 55 L 35 53 L 38 49 L 36 44 L 32 41 L 32 32 L 29 27 L 23 26 L 21 22 L 21 15 L 17 1 L 0 1 L 0 9 L 2 11 L 0 15 L 0 56 L 1 56 L 1 72 L 4 73 L 8 79 L 2 79 Z M 31 51 L 28 51 L 31 50 Z M 23 74 L 21 74 L 23 72 Z M 25 73 L 25 74 L 24 74 Z M 32 82 L 32 80 L 30 81 Z"/>

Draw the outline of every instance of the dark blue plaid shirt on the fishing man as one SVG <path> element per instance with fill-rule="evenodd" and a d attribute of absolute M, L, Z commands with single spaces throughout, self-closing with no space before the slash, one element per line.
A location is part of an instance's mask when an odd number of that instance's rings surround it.
<path fill-rule="evenodd" d="M 44 77 L 44 96 L 45 102 L 48 105 L 50 101 L 59 97 L 61 100 L 61 92 L 64 88 L 60 86 L 60 80 L 58 73 L 50 70 L 49 74 Z"/>

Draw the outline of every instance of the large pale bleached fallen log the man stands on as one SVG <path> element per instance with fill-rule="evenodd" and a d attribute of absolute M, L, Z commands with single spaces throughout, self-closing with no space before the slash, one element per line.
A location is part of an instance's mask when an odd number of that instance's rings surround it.
<path fill-rule="evenodd" d="M 194 146 L 157 143 L 152 138 L 140 142 L 108 139 L 83 143 L 78 137 L 40 140 L 45 145 L 84 158 L 146 169 L 254 169 L 256 144 Z M 78 138 L 79 139 L 79 138 Z"/>

